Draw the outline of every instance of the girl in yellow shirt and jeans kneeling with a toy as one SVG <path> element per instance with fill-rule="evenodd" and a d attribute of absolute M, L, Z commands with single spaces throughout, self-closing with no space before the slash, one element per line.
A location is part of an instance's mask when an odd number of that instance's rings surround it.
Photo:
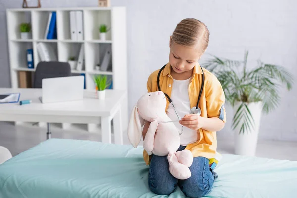
<path fill-rule="evenodd" d="M 176 126 L 181 129 L 181 144 L 178 151 L 188 149 L 193 154 L 190 166 L 191 177 L 178 180 L 169 172 L 167 156 L 150 155 L 144 151 L 144 160 L 150 164 L 149 187 L 156 194 L 168 195 L 177 185 L 188 197 L 203 197 L 212 188 L 214 172 L 209 160 L 216 153 L 216 131 L 221 130 L 226 122 L 224 108 L 225 96 L 217 78 L 200 67 L 198 60 L 205 52 L 209 41 L 209 31 L 204 23 L 197 19 L 184 19 L 170 36 L 169 63 L 160 72 L 161 91 L 172 100 L 177 114 L 182 120 Z M 158 91 L 157 79 L 160 70 L 153 72 L 147 82 L 148 92 Z M 204 86 L 202 87 L 204 81 Z M 200 90 L 201 93 L 200 93 Z M 198 96 L 200 99 L 198 100 Z M 191 114 L 193 107 L 201 109 L 201 114 Z M 176 120 L 177 115 L 167 100 L 166 113 Z M 143 128 L 145 137 L 149 122 Z"/>

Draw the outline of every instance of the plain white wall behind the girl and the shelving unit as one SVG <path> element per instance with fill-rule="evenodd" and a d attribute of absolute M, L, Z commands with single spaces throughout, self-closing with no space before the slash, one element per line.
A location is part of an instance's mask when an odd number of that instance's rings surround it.
<path fill-rule="evenodd" d="M 181 3 L 182 2 L 182 3 Z M 207 53 L 242 60 L 250 51 L 249 67 L 256 60 L 285 66 L 297 77 L 297 1 L 294 0 L 111 0 L 127 7 L 129 110 L 146 92 L 149 74 L 168 61 L 169 36 L 183 18 L 203 21 L 210 31 Z M 20 7 L 21 0 L 0 3 L 0 87 L 9 86 L 5 9 Z M 47 0 L 42 7 L 97 6 L 97 0 Z M 5 31 L 3 31 L 3 29 Z M 200 63 L 207 58 L 204 56 Z M 296 79 L 297 80 L 297 79 Z M 291 92 L 280 91 L 281 104 L 264 116 L 260 139 L 297 141 L 297 83 Z M 232 138 L 232 109 L 221 138 Z"/>

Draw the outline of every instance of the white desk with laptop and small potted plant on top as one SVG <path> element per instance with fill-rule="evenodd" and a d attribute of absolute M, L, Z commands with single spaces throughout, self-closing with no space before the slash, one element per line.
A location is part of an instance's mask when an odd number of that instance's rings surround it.
<path fill-rule="evenodd" d="M 0 94 L 20 92 L 20 100 L 32 100 L 31 104 L 0 104 L 0 121 L 48 122 L 48 123 L 94 123 L 101 120 L 102 142 L 111 143 L 111 120 L 114 142 L 123 144 L 121 101 L 125 91 L 106 90 L 106 99 L 99 100 L 95 91 L 84 90 L 84 99 L 79 101 L 43 104 L 38 99 L 41 89 L 0 88 Z"/>

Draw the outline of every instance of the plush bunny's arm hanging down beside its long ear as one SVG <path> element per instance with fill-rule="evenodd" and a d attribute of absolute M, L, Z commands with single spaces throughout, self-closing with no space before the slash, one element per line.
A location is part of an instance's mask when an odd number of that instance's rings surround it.
<path fill-rule="evenodd" d="M 158 127 L 158 122 L 153 121 L 150 123 L 148 127 L 147 134 L 145 135 L 145 139 L 143 142 L 143 148 L 147 151 L 148 155 L 152 154 L 152 150 L 154 147 L 154 136 Z"/>

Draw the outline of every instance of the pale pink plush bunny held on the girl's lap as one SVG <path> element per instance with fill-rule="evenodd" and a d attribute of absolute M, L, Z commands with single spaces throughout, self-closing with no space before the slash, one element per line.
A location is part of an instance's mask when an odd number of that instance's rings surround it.
<path fill-rule="evenodd" d="M 142 138 L 144 120 L 150 123 L 143 142 L 143 148 L 148 155 L 167 156 L 169 171 L 177 179 L 191 177 L 189 167 L 193 162 L 193 155 L 189 150 L 177 151 L 180 137 L 177 128 L 171 123 L 166 112 L 166 97 L 163 92 L 151 92 L 143 95 L 131 113 L 128 125 L 128 138 L 134 148 Z"/>

